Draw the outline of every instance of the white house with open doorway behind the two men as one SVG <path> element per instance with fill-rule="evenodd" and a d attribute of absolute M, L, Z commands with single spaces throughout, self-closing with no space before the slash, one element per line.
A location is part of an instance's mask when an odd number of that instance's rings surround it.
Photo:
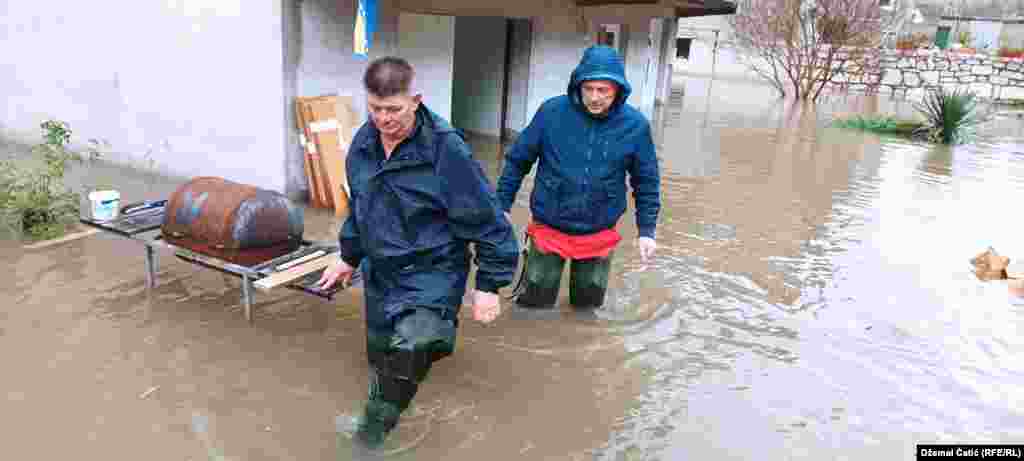
<path fill-rule="evenodd" d="M 38 140 L 67 121 L 127 162 L 162 145 L 167 173 L 217 175 L 304 197 L 296 96 L 351 94 L 358 0 L 8 2 L 0 134 Z M 514 133 L 565 91 L 582 51 L 613 36 L 651 117 L 668 94 L 677 20 L 723 0 L 376 0 L 368 58 L 398 54 L 457 127 Z M 369 16 L 368 16 L 369 17 Z"/>

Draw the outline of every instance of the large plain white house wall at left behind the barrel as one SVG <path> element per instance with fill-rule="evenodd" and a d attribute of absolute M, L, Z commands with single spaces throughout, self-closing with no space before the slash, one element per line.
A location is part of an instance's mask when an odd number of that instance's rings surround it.
<path fill-rule="evenodd" d="M 67 121 L 111 158 L 284 191 L 281 0 L 10 1 L 0 16 L 2 134 Z"/>

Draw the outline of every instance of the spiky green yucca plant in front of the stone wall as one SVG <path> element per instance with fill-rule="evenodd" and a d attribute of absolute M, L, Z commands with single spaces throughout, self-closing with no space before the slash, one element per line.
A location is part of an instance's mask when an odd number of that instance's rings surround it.
<path fill-rule="evenodd" d="M 988 118 L 978 95 L 963 88 L 948 91 L 940 87 L 926 94 L 922 102 L 914 102 L 913 107 L 925 117 L 925 125 L 914 134 L 944 144 L 972 140 L 978 125 Z"/>

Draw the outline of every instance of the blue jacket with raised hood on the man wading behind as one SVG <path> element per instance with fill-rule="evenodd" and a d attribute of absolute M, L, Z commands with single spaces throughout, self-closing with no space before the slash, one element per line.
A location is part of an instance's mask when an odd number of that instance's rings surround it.
<path fill-rule="evenodd" d="M 606 117 L 583 106 L 581 84 L 611 80 L 618 95 Z M 632 92 L 614 48 L 592 46 L 572 72 L 565 95 L 548 99 L 506 156 L 498 200 L 508 211 L 522 178 L 538 162 L 529 200 L 538 222 L 570 235 L 614 227 L 626 212 L 626 174 L 636 201 L 637 229 L 654 238 L 660 209 L 657 156 L 650 124 L 626 103 Z"/>

